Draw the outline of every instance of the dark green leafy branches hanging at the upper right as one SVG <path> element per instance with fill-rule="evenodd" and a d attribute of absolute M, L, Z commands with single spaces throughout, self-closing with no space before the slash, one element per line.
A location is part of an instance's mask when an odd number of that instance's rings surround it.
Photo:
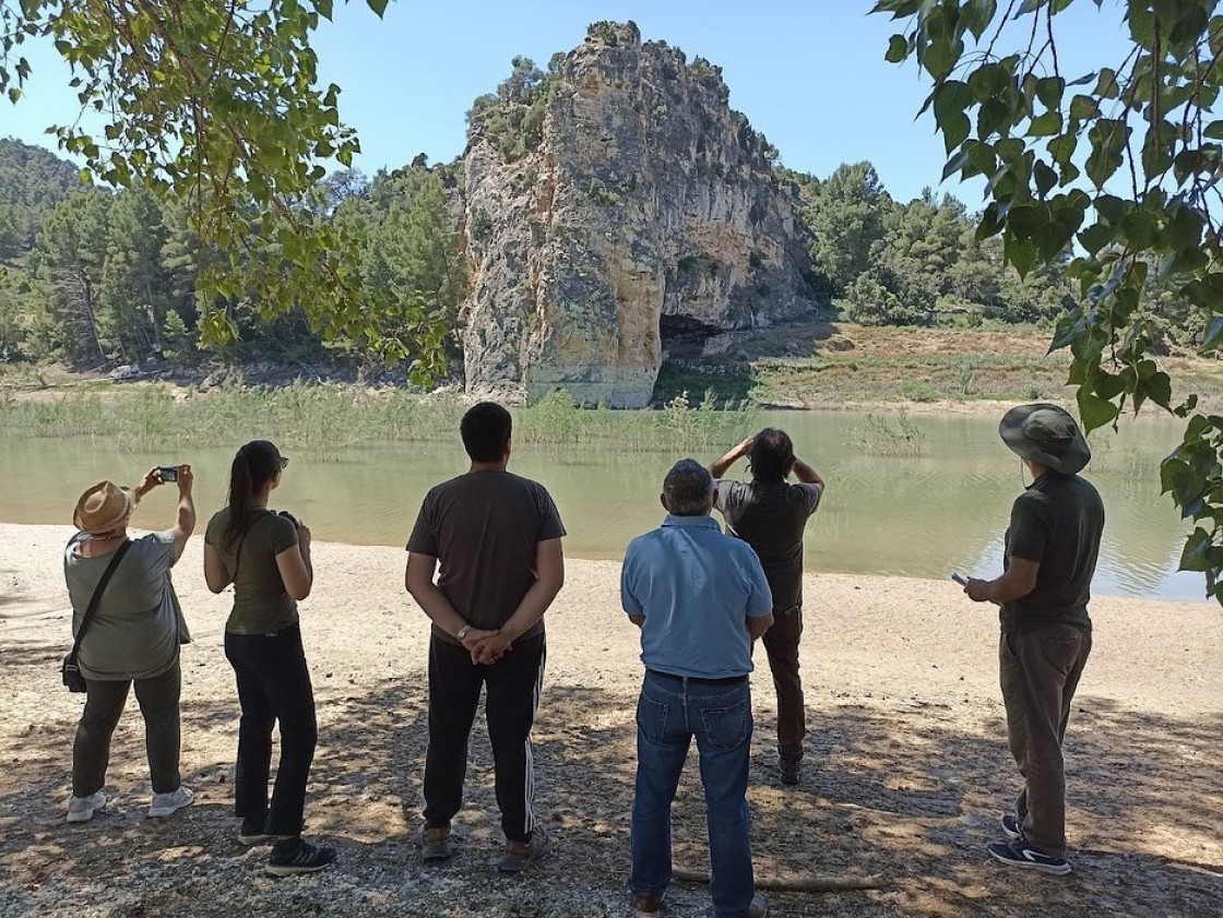
<path fill-rule="evenodd" d="M 1202 352 L 1223 348 L 1223 16 L 1217 0 L 1125 0 L 1124 60 L 1063 73 L 1058 15 L 1086 1 L 881 0 L 873 12 L 901 22 L 885 59 L 915 59 L 933 83 L 922 111 L 943 134 L 944 178 L 986 182 L 978 240 L 1000 236 L 1020 274 L 1069 262 L 1079 299 L 1051 350 L 1070 350 L 1084 427 L 1115 425 L 1126 403 L 1188 419 L 1161 478 L 1196 523 L 1181 567 L 1223 601 L 1223 417 L 1199 413 L 1194 394 L 1173 406 L 1145 299 L 1174 290 L 1207 317 Z"/>

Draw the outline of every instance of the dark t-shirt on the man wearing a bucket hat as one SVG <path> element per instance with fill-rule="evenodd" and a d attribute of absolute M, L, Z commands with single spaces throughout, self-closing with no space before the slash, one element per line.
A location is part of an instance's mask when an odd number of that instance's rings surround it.
<path fill-rule="evenodd" d="M 1104 502 L 1085 478 L 1046 472 L 1015 499 L 1007 529 L 1011 556 L 1038 561 L 1036 587 L 999 612 L 1008 633 L 1047 625 L 1091 627 L 1087 603 L 1104 531 Z"/>

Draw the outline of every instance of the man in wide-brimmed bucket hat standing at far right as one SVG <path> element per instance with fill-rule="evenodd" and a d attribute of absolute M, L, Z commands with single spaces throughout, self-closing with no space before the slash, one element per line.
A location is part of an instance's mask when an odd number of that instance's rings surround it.
<path fill-rule="evenodd" d="M 989 853 L 1014 867 L 1068 874 L 1062 740 L 1091 653 L 1087 601 L 1104 505 L 1079 476 L 1091 450 L 1064 409 L 1021 405 L 1007 412 L 998 433 L 1033 480 L 1010 511 L 1003 575 L 964 588 L 974 601 L 1002 608 L 1007 733 L 1024 776 L 1016 812 L 1002 817 L 1010 841 L 991 845 Z"/>

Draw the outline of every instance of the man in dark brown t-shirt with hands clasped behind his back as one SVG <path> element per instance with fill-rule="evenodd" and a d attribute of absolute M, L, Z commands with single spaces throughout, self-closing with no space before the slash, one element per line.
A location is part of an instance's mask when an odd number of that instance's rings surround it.
<path fill-rule="evenodd" d="M 422 857 L 451 854 L 450 820 L 462 806 L 467 738 L 487 687 L 506 840 L 498 869 L 505 873 L 548 853 L 532 810 L 531 726 L 543 680 L 543 614 L 565 581 L 565 528 L 556 505 L 543 485 L 506 471 L 511 430 L 510 413 L 494 402 L 464 414 L 460 433 L 471 468 L 424 496 L 407 540 L 405 575 L 407 592 L 433 621 Z"/>

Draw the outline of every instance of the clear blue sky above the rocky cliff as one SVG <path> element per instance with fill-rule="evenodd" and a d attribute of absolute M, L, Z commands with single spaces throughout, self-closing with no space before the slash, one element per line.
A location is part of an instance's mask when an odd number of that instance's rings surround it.
<path fill-rule="evenodd" d="M 364 0 L 335 5 L 316 46 L 322 78 L 338 83 L 344 120 L 357 128 L 368 174 L 417 153 L 432 161 L 462 152 L 472 99 L 495 89 L 517 54 L 545 65 L 580 44 L 588 23 L 632 20 L 660 39 L 723 68 L 730 104 L 747 115 L 791 169 L 826 176 L 840 163 L 871 160 L 896 198 L 926 185 L 976 208 L 977 187 L 939 186 L 942 139 L 927 114 L 916 65 L 883 60 L 895 29 L 868 16 L 870 0 L 393 0 L 379 21 Z M 1000 4 L 1003 5 L 1003 4 Z M 1014 24 L 1018 42 L 1031 17 Z M 1076 2 L 1059 15 L 1062 70 L 1069 78 L 1124 59 L 1115 0 L 1103 11 Z M 1013 45 L 1014 46 L 1014 45 Z M 55 148 L 44 128 L 71 123 L 76 97 L 67 67 L 49 48 L 32 48 L 27 98 L 0 101 L 0 136 Z"/>

